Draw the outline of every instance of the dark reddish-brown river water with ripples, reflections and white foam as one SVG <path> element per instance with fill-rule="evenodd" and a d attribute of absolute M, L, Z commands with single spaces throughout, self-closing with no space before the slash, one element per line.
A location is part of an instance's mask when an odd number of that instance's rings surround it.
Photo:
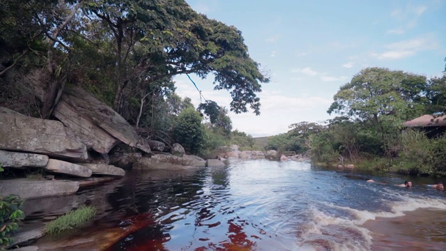
<path fill-rule="evenodd" d="M 224 168 L 134 170 L 65 197 L 63 206 L 43 199 L 25 206 L 31 222 L 61 208 L 98 208 L 91 225 L 38 241 L 45 249 L 70 240 L 83 244 L 60 244 L 64 250 L 446 250 L 445 192 L 423 185 L 440 180 L 394 185 L 405 179 L 309 162 L 231 160 Z M 48 203 L 51 209 L 36 206 Z"/>

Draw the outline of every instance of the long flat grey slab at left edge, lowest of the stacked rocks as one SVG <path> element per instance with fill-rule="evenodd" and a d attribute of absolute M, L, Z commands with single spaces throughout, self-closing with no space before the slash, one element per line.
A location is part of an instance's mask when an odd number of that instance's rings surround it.
<path fill-rule="evenodd" d="M 32 181 L 17 178 L 0 181 L 0 195 L 18 195 L 22 199 L 70 195 L 79 190 L 77 181 Z"/>

